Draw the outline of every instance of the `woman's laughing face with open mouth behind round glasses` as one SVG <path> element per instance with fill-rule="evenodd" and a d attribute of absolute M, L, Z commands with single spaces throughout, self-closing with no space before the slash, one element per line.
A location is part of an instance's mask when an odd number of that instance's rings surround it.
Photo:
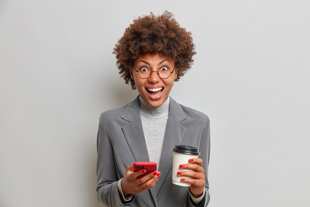
<path fill-rule="evenodd" d="M 134 66 L 137 71 L 146 69 L 157 71 L 158 69 L 165 70 L 167 68 L 172 71 L 174 61 L 166 56 L 147 53 L 140 55 L 134 61 Z M 136 88 L 143 100 L 151 106 L 158 107 L 168 98 L 173 82 L 177 78 L 177 71 L 174 69 L 166 79 L 161 79 L 157 72 L 152 72 L 150 77 L 144 79 L 132 67 L 130 75 L 135 80 Z"/>

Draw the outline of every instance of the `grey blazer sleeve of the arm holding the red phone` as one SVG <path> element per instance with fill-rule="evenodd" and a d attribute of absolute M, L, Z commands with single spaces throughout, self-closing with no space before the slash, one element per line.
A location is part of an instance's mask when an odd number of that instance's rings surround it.
<path fill-rule="evenodd" d="M 103 115 L 100 116 L 97 135 L 97 196 L 106 207 L 126 207 L 135 200 L 135 195 L 129 202 L 122 202 L 118 191 L 118 177 L 115 167 L 112 144 L 104 128 Z"/>

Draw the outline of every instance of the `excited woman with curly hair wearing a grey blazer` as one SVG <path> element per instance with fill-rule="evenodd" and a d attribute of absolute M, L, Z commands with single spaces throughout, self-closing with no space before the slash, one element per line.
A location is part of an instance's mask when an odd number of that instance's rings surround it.
<path fill-rule="evenodd" d="M 191 68 L 196 54 L 191 33 L 169 12 L 139 17 L 114 48 L 119 73 L 139 96 L 101 114 L 98 130 L 98 199 L 107 207 L 206 207 L 210 131 L 207 115 L 169 97 L 174 81 Z M 178 172 L 188 176 L 173 185 L 172 149 L 199 148 Z M 157 171 L 133 171 L 136 161 L 153 161 Z"/>

